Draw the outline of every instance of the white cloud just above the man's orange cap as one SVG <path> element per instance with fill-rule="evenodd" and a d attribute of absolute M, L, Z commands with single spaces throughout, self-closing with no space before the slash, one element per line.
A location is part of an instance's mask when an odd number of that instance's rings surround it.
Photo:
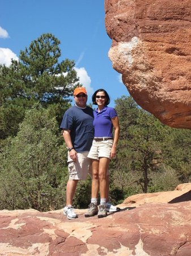
<path fill-rule="evenodd" d="M 88 73 L 85 68 L 74 68 L 77 72 L 77 76 L 79 77 L 79 82 L 84 87 L 86 87 L 87 94 L 90 98 L 90 95 L 94 93 L 94 89 L 91 87 L 91 78 L 88 76 Z"/>

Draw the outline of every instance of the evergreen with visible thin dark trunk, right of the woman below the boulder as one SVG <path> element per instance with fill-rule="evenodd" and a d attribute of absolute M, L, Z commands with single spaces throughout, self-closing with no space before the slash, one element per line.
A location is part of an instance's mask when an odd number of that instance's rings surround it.
<path fill-rule="evenodd" d="M 132 135 L 129 141 L 131 170 L 139 172 L 136 183 L 147 193 L 151 173 L 159 171 L 162 163 L 164 126 L 154 115 L 140 110 L 137 125 L 131 126 L 129 132 Z"/>

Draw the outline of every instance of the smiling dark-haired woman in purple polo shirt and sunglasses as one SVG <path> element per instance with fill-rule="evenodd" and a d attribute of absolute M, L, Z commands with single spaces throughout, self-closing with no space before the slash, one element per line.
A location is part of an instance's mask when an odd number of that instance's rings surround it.
<path fill-rule="evenodd" d="M 85 217 L 94 216 L 98 212 L 97 217 L 101 218 L 107 216 L 105 209 L 109 185 L 107 172 L 110 160 L 116 156 L 120 126 L 116 110 L 107 106 L 110 98 L 104 89 L 96 90 L 92 96 L 92 102 L 97 105 L 94 111 L 95 138 L 88 154 L 88 158 L 92 159 L 92 199 Z M 99 189 L 100 205 L 97 207 Z"/>

